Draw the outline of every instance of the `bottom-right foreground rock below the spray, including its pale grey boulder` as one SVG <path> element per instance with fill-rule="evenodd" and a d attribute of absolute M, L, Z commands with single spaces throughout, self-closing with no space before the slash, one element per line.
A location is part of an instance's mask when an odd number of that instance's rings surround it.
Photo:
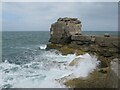
<path fill-rule="evenodd" d="M 113 60 L 114 61 L 114 60 Z M 72 64 L 76 64 L 73 61 Z M 118 60 L 111 62 L 111 66 L 96 69 L 87 78 L 74 78 L 69 80 L 70 76 L 64 77 L 64 84 L 71 88 L 118 88 L 120 76 L 118 76 Z M 68 78 L 68 79 L 67 79 Z"/>

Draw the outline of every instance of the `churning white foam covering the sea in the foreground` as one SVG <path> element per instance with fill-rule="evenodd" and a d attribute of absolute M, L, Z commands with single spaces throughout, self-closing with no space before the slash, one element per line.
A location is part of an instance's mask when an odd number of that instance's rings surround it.
<path fill-rule="evenodd" d="M 69 66 L 69 63 L 75 58 L 80 59 L 79 63 Z M 89 54 L 63 56 L 57 51 L 45 51 L 36 56 L 36 59 L 36 61 L 22 66 L 8 62 L 1 63 L 0 87 L 64 88 L 63 83 L 56 79 L 69 75 L 72 76 L 68 79 L 86 77 L 99 65 L 97 58 Z"/>

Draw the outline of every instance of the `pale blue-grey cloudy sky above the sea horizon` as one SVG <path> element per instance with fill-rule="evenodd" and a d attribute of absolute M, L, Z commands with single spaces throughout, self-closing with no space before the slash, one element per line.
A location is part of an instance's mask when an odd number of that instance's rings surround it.
<path fill-rule="evenodd" d="M 59 17 L 81 20 L 83 31 L 117 31 L 117 2 L 3 2 L 3 31 L 49 31 Z"/>

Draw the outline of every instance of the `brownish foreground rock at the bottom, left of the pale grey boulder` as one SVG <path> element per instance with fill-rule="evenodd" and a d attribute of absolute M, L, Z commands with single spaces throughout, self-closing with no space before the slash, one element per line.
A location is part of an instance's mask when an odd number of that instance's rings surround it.
<path fill-rule="evenodd" d="M 95 70 L 87 78 L 74 78 L 67 80 L 64 84 L 71 88 L 110 88 L 108 84 L 107 74 Z"/>

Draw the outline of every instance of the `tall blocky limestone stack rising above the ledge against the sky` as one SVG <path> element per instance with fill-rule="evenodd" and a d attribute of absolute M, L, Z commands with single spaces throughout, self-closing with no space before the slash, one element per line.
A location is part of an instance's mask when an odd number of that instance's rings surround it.
<path fill-rule="evenodd" d="M 71 36 L 81 34 L 81 21 L 77 18 L 59 18 L 50 28 L 50 42 L 64 44 L 71 41 Z"/>

